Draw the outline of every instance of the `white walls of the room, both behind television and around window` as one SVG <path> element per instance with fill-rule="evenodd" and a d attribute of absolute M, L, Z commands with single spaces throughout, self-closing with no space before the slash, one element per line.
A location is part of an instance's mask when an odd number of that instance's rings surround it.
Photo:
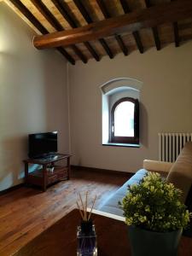
<path fill-rule="evenodd" d="M 67 64 L 54 50 L 32 46 L 34 33 L 0 3 L 0 190 L 22 182 L 27 135 L 59 131 L 68 152 Z M 192 43 L 137 51 L 69 66 L 73 164 L 135 172 L 157 159 L 159 131 L 192 131 Z M 141 148 L 102 146 L 102 93 L 111 79 L 143 82 Z"/>

